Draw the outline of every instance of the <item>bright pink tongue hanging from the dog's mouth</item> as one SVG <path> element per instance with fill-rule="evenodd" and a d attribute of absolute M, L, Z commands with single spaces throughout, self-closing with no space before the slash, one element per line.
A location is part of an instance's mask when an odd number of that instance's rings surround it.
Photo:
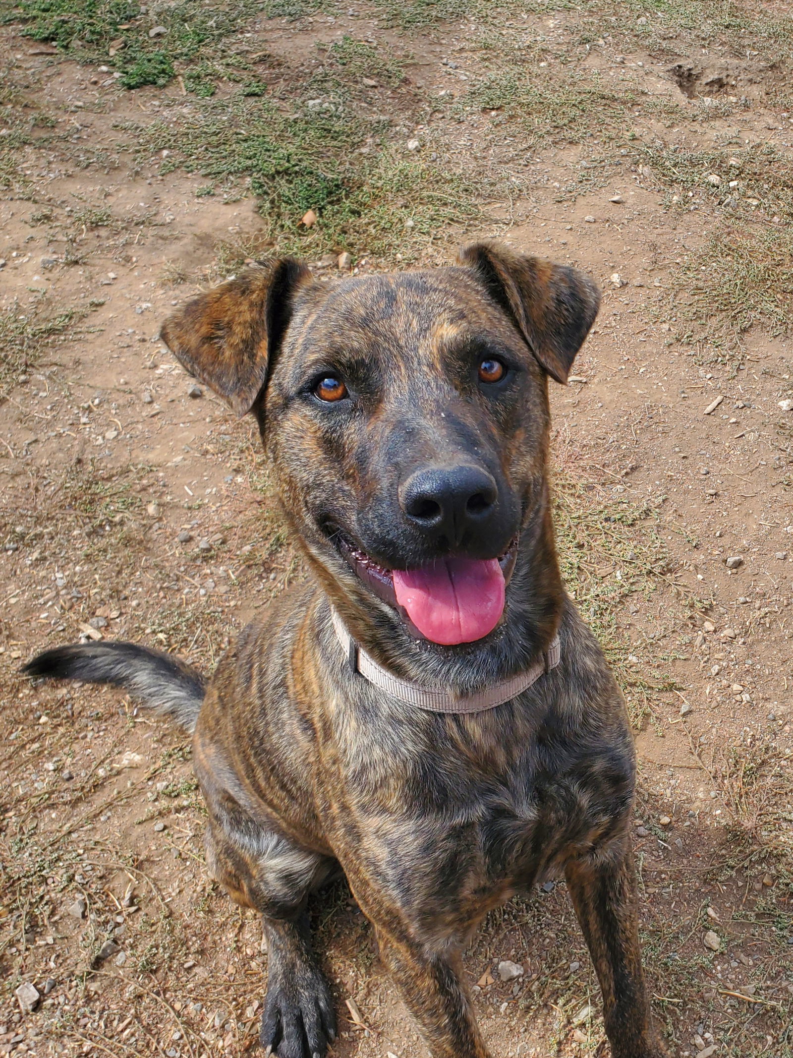
<path fill-rule="evenodd" d="M 446 646 L 486 636 L 504 608 L 498 559 L 445 559 L 420 569 L 394 569 L 393 588 L 419 632 Z"/>

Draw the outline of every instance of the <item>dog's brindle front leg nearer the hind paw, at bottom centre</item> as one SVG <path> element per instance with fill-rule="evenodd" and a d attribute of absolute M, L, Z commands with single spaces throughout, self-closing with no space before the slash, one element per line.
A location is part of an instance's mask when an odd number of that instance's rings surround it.
<path fill-rule="evenodd" d="M 374 928 L 381 956 L 432 1058 L 490 1058 L 461 982 L 457 950 L 430 950 L 376 920 Z"/>

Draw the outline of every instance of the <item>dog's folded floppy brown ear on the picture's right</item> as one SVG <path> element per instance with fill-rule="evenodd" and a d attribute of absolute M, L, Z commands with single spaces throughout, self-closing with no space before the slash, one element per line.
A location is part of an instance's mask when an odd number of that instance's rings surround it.
<path fill-rule="evenodd" d="M 459 261 L 476 272 L 548 373 L 566 383 L 601 304 L 589 276 L 495 242 L 465 247 Z"/>

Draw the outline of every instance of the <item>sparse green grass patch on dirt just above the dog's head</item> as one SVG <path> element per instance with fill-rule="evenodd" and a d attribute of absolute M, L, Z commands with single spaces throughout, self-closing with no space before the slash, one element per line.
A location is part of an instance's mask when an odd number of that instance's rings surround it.
<path fill-rule="evenodd" d="M 387 121 L 363 117 L 337 81 L 312 80 L 307 96 L 290 110 L 241 93 L 208 101 L 178 128 L 150 126 L 146 148 L 167 146 L 168 167 L 211 181 L 203 194 L 256 195 L 263 239 L 277 253 L 399 252 L 410 260 L 480 216 L 471 181 L 389 145 Z M 362 145 L 367 152 L 356 154 Z M 318 217 L 311 229 L 301 225 L 309 209 Z"/>

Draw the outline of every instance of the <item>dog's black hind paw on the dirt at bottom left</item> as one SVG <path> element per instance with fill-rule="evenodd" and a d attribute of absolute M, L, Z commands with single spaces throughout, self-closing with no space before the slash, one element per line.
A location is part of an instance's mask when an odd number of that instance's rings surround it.
<path fill-rule="evenodd" d="M 271 981 L 261 1016 L 261 1045 L 278 1058 L 325 1058 L 336 1036 L 330 990 L 319 971 L 301 969 Z"/>

